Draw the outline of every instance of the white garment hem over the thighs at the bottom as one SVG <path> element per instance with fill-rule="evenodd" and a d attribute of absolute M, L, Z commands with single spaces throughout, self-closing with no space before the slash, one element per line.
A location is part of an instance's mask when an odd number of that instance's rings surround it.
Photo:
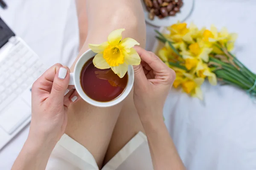
<path fill-rule="evenodd" d="M 52 151 L 46 170 L 99 170 L 99 167 L 84 146 L 64 134 Z M 102 170 L 153 170 L 144 133 L 137 133 Z"/>

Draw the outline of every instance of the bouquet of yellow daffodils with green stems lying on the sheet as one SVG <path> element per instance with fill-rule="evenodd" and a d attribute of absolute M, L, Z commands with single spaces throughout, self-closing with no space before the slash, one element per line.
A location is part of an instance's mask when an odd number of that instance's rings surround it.
<path fill-rule="evenodd" d="M 230 51 L 237 34 L 226 28 L 211 26 L 198 29 L 194 24 L 177 23 L 167 28 L 169 34 L 156 31 L 164 43 L 159 57 L 176 72 L 173 84 L 191 96 L 203 99 L 201 85 L 207 78 L 212 85 L 219 82 L 235 85 L 256 96 L 256 74 L 246 68 Z"/>

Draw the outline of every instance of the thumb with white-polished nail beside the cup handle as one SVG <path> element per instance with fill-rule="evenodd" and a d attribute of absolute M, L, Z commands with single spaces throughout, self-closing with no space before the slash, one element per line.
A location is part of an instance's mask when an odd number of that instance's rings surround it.
<path fill-rule="evenodd" d="M 67 90 L 67 86 L 69 84 L 70 74 L 69 69 L 65 67 L 61 67 L 55 74 L 52 90 L 50 93 L 50 98 L 53 102 L 63 103 L 64 95 Z"/>

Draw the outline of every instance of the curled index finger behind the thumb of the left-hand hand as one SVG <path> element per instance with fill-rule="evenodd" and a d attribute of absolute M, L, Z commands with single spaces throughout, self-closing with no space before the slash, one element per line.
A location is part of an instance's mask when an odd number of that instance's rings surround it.
<path fill-rule="evenodd" d="M 61 68 L 61 64 L 57 63 L 48 68 L 32 85 L 32 95 L 50 94 L 52 90 L 52 82 L 56 71 Z"/>

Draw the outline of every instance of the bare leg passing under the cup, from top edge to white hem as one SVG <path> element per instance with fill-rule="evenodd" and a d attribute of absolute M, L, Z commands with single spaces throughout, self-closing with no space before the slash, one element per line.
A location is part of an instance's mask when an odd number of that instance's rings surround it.
<path fill-rule="evenodd" d="M 88 31 L 79 56 L 88 50 L 89 43 L 107 41 L 108 34 L 118 28 L 125 28 L 123 37 L 134 38 L 145 47 L 145 20 L 140 0 L 87 0 L 86 7 Z M 70 107 L 65 133 L 93 154 L 99 168 L 122 105 L 96 108 L 81 100 Z"/>

